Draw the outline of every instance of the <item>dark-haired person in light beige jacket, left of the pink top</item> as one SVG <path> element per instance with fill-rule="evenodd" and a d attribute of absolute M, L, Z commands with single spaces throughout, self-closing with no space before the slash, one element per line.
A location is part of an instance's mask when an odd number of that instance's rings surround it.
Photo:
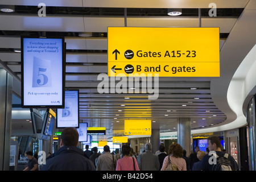
<path fill-rule="evenodd" d="M 115 171 L 117 159 L 110 153 L 108 145 L 103 147 L 103 154 L 98 156 L 97 171 Z"/>

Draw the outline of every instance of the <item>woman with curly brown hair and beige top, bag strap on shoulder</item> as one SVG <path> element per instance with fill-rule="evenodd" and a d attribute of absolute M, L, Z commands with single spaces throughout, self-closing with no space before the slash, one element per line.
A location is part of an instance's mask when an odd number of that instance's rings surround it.
<path fill-rule="evenodd" d="M 183 156 L 183 148 L 178 143 L 172 143 L 168 148 L 168 154 L 166 158 L 164 158 L 163 166 L 161 171 L 165 171 L 168 167 L 169 162 L 174 166 L 172 170 L 176 171 L 187 171 L 187 164 Z"/>

